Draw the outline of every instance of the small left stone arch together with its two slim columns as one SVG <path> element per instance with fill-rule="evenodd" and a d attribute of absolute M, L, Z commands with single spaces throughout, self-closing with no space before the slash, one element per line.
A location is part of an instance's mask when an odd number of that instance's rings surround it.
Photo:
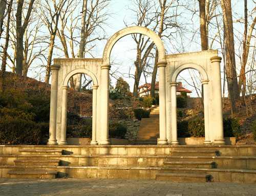
<path fill-rule="evenodd" d="M 91 93 L 92 93 L 92 141 L 91 145 L 97 145 L 97 138 L 96 138 L 96 102 L 97 102 L 97 89 L 98 89 L 98 81 L 95 75 L 87 69 L 76 69 L 69 72 L 65 78 L 63 79 L 63 85 L 61 86 L 62 91 L 62 110 L 61 110 L 61 137 L 59 145 L 66 145 L 67 139 L 67 109 L 68 109 L 68 89 L 70 88 L 70 78 L 76 74 L 84 74 L 89 76 L 92 80 L 91 85 Z M 88 79 L 88 78 L 87 78 Z M 89 79 L 89 84 L 91 83 Z"/>

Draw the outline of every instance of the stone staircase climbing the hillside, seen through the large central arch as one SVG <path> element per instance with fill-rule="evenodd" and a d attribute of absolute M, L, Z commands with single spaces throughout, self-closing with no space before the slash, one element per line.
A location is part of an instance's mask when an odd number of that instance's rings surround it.
<path fill-rule="evenodd" d="M 137 134 L 137 145 L 157 145 L 159 138 L 159 105 L 151 108 L 150 118 L 142 118 Z"/>

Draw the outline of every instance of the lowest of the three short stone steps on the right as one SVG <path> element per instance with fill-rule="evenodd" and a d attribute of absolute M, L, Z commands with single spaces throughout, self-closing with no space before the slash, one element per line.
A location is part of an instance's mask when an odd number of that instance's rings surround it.
<path fill-rule="evenodd" d="M 171 182 L 208 182 L 210 175 L 196 173 L 157 173 L 156 180 Z"/>

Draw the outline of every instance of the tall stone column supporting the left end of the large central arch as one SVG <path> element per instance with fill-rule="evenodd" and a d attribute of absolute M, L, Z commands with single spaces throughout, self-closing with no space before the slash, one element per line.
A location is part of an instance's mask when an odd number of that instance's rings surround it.
<path fill-rule="evenodd" d="M 110 145 L 109 140 L 109 83 L 110 83 L 109 64 L 101 66 L 102 73 L 102 105 L 101 105 L 101 133 L 100 145 Z"/>

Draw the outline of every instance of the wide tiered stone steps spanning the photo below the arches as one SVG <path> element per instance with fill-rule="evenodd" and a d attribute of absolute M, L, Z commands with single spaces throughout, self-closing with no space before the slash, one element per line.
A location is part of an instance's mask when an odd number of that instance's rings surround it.
<path fill-rule="evenodd" d="M 256 146 L 0 146 L 0 178 L 256 184 Z"/>

